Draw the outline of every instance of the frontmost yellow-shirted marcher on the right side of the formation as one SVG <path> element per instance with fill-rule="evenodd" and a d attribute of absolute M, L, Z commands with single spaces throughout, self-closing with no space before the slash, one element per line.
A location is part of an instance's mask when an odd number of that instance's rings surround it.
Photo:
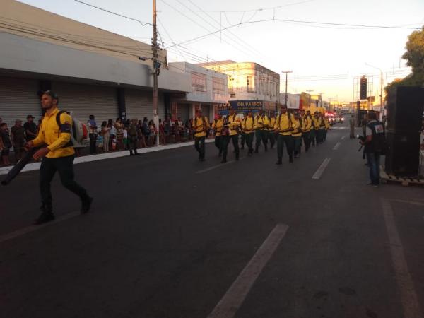
<path fill-rule="evenodd" d="M 278 133 L 277 141 L 277 165 L 282 164 L 284 144 L 288 154 L 288 160 L 293 163 L 293 122 L 295 117 L 287 111 L 287 105 L 281 106 L 281 113 L 277 117 L 274 129 Z"/>

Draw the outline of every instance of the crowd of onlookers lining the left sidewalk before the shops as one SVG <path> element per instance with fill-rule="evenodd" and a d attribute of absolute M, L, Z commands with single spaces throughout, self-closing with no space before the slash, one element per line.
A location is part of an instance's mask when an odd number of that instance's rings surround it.
<path fill-rule="evenodd" d="M 18 161 L 22 158 L 25 150 L 25 142 L 35 139 L 41 119 L 36 124 L 35 117 L 28 115 L 27 121 L 16 119 L 12 127 L 2 122 L 0 118 L 0 165 L 11 165 L 11 150 L 14 159 Z M 192 123 L 188 119 L 184 122 L 181 118 L 171 120 L 166 117 L 159 119 L 158 127 L 153 120 L 144 117 L 139 119 L 115 121 L 109 119 L 103 122 L 96 122 L 95 116 L 90 115 L 86 127 L 88 129 L 87 151 L 90 154 L 107 153 L 110 151 L 124 151 L 133 148 L 146 148 L 155 146 L 158 137 L 161 145 L 167 143 L 178 143 L 193 140 Z M 208 136 L 213 136 L 212 129 L 208 131 Z M 136 149 L 134 149 L 136 152 Z M 84 151 L 77 149 L 76 155 L 83 155 Z"/>

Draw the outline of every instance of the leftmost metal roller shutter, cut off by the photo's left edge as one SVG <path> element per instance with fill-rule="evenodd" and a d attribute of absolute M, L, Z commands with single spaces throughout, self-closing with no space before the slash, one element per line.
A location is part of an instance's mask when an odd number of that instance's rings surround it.
<path fill-rule="evenodd" d="M 9 129 L 16 119 L 24 124 L 29 114 L 35 117 L 36 123 L 41 118 L 38 89 L 36 80 L 0 76 L 0 117 Z"/>

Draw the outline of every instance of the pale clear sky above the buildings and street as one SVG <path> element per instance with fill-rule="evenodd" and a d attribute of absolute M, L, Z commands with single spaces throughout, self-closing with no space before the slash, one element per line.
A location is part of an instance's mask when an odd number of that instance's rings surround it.
<path fill-rule="evenodd" d="M 152 22 L 153 1 L 150 0 L 83 1 Z M 353 100 L 353 78 L 365 73 L 375 74 L 373 91 L 378 95 L 379 71 L 365 63 L 384 71 L 384 84 L 404 77 L 408 69 L 400 57 L 413 30 L 307 24 L 293 20 L 408 28 L 424 25 L 423 0 L 157 1 L 158 30 L 165 48 L 172 42 L 179 44 L 240 22 L 273 18 L 291 20 L 249 23 L 217 32 L 170 48 L 168 59 L 192 63 L 222 59 L 255 61 L 276 72 L 293 70 L 289 76 L 289 93 L 310 89 L 314 93 L 323 92 L 324 100 Z M 136 40 L 151 40 L 151 25 L 142 26 L 74 0 L 21 2 Z M 283 90 L 283 77 L 281 79 Z"/>

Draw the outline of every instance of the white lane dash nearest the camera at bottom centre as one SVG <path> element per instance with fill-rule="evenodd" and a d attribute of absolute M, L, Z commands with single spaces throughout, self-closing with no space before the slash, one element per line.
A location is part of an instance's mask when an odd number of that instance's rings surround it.
<path fill-rule="evenodd" d="M 278 224 L 266 237 L 264 243 L 254 254 L 249 263 L 227 290 L 227 293 L 213 308 L 208 318 L 232 318 L 245 300 L 266 263 L 276 251 L 281 240 L 288 230 L 288 225 Z"/>

